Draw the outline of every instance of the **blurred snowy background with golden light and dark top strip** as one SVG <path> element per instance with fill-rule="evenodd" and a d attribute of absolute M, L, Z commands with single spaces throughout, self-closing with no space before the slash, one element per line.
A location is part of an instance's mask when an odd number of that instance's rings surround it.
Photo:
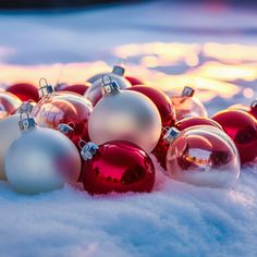
<path fill-rule="evenodd" d="M 0 83 L 82 83 L 117 63 L 209 113 L 257 97 L 256 1 L 0 1 Z"/>

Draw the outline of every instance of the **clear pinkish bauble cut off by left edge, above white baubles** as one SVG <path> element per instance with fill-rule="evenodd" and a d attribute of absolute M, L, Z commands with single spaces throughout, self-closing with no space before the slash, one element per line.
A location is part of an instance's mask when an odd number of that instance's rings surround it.
<path fill-rule="evenodd" d="M 22 105 L 20 98 L 9 91 L 0 91 L 0 117 L 5 118 L 15 113 L 16 109 Z"/>

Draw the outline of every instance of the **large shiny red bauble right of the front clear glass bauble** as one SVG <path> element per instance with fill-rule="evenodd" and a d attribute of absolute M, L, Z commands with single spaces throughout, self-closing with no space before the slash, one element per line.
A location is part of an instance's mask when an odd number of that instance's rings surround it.
<path fill-rule="evenodd" d="M 257 157 L 257 121 L 250 114 L 238 110 L 224 110 L 216 113 L 212 119 L 234 140 L 242 163 Z"/>

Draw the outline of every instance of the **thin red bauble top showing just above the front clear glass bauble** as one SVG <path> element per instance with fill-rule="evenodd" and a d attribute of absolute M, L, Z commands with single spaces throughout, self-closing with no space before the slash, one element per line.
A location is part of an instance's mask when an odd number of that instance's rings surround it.
<path fill-rule="evenodd" d="M 182 119 L 175 123 L 175 127 L 180 131 L 184 131 L 187 127 L 197 126 L 197 125 L 216 126 L 220 128 L 221 131 L 223 131 L 222 126 L 218 122 L 209 118 L 204 118 L 204 117 L 189 117 L 189 118 Z"/>

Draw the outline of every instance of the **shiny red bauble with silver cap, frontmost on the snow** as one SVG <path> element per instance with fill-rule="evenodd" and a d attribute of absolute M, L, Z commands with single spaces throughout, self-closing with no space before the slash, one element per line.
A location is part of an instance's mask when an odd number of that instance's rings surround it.
<path fill-rule="evenodd" d="M 88 143 L 82 149 L 85 160 L 83 185 L 89 194 L 150 192 L 155 168 L 149 156 L 128 142 Z"/>

